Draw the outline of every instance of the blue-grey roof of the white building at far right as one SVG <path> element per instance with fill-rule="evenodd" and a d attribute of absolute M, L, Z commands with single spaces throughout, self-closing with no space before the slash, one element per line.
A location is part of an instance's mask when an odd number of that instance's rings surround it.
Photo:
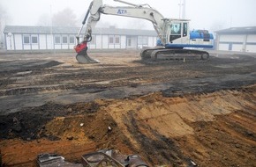
<path fill-rule="evenodd" d="M 216 31 L 218 34 L 256 34 L 256 26 L 231 27 Z"/>

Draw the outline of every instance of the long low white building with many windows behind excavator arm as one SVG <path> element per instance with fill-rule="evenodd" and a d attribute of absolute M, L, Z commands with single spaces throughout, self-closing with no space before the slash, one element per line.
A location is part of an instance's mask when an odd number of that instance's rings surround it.
<path fill-rule="evenodd" d="M 7 50 L 73 49 L 78 27 L 6 25 L 4 42 Z M 83 34 L 84 32 L 82 32 Z M 126 49 L 154 47 L 157 34 L 151 30 L 95 28 L 91 49 Z"/>

